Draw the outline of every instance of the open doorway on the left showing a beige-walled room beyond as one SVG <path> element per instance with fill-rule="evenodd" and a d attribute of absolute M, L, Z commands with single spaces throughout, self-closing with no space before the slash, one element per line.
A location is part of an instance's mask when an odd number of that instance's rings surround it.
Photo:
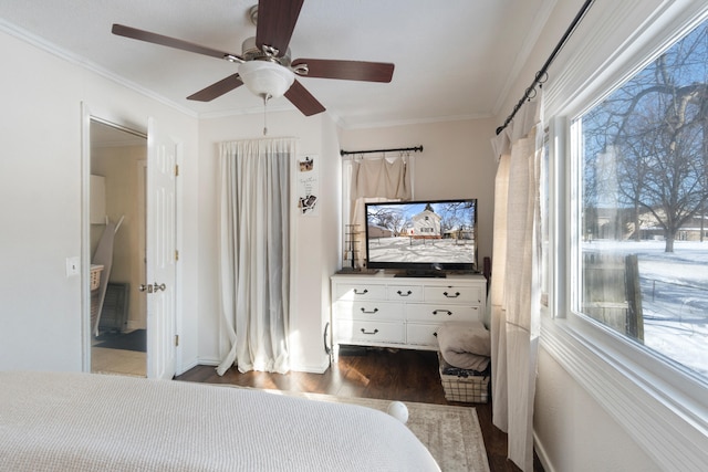
<path fill-rule="evenodd" d="M 91 371 L 146 377 L 147 137 L 90 123 Z"/>

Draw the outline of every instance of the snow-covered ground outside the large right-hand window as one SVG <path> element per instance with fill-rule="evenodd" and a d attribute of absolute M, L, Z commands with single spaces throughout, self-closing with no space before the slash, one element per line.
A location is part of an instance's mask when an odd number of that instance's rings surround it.
<path fill-rule="evenodd" d="M 593 241 L 583 251 L 637 254 L 644 344 L 708 377 L 708 242 Z"/>

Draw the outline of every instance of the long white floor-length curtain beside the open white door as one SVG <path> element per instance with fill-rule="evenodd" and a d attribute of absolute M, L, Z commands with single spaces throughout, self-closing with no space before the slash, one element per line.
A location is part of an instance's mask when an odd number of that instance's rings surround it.
<path fill-rule="evenodd" d="M 287 373 L 294 139 L 221 143 L 219 375 Z M 228 352 L 227 352 L 228 350 Z"/>

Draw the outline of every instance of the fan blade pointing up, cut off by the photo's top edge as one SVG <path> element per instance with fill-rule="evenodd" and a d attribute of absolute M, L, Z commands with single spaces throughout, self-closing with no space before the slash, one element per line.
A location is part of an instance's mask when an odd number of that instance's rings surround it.
<path fill-rule="evenodd" d="M 288 52 L 290 38 L 295 29 L 304 0 L 259 0 L 256 44 L 278 50 L 281 57 Z"/>

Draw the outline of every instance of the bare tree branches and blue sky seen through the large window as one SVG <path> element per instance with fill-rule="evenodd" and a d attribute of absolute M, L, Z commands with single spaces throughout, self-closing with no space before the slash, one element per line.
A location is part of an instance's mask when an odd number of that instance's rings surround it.
<path fill-rule="evenodd" d="M 583 117 L 585 169 L 612 151 L 615 167 L 585 176 L 595 208 L 612 195 L 631 209 L 638 238 L 639 214 L 664 230 L 666 252 L 679 229 L 708 201 L 708 27 L 689 33 Z M 605 169 L 606 170 L 606 169 Z M 604 197 L 601 197 L 604 196 Z M 617 221 L 622 225 L 621 221 Z"/>

